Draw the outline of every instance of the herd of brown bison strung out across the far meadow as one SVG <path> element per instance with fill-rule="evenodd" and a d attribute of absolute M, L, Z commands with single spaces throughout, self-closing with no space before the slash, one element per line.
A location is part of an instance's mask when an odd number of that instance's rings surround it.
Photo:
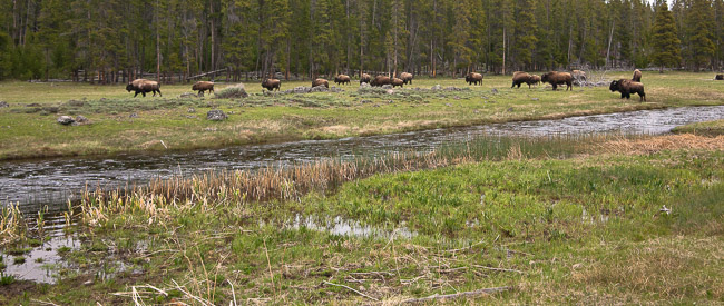
<path fill-rule="evenodd" d="M 388 76 L 376 76 L 372 78 L 368 73 L 362 73 L 360 76 L 360 85 L 369 83 L 370 86 L 373 87 L 382 87 L 389 85 L 394 88 L 394 87 L 403 87 L 404 85 L 412 85 L 412 79 L 413 76 L 412 73 L 409 72 L 400 73 L 399 78 L 394 78 L 394 77 L 391 78 Z M 469 72 L 468 75 L 466 75 L 464 79 L 468 85 L 482 85 L 481 73 Z M 516 71 L 512 75 L 512 86 L 510 88 L 515 88 L 516 86 L 520 88 L 520 86 L 524 83 L 528 85 L 528 88 L 531 88 L 535 85 L 547 82 L 550 83 L 554 90 L 558 90 L 558 86 L 565 85 L 566 91 L 568 91 L 568 90 L 573 90 L 574 80 L 586 81 L 586 72 L 580 70 L 573 70 L 573 72 L 550 71 L 541 76 L 536 76 L 525 71 Z M 724 75 L 716 75 L 715 80 L 724 80 Z M 336 85 L 350 85 L 352 79 L 350 78 L 350 76 L 346 75 L 337 75 L 334 78 L 334 83 Z M 330 82 L 325 79 L 317 78 L 314 81 L 312 81 L 312 87 L 317 87 L 317 86 L 323 86 L 329 88 Z M 262 81 L 262 87 L 268 91 L 273 91 L 273 90 L 278 91 L 282 88 L 282 81 L 278 79 L 266 78 Z M 612 92 L 616 92 L 616 91 L 620 92 L 622 99 L 624 98 L 630 99 L 632 93 L 636 93 L 639 96 L 640 101 L 646 101 L 646 92 L 644 91 L 644 85 L 642 83 L 642 71 L 638 69 L 634 70 L 634 76 L 632 77 L 630 80 L 628 79 L 614 80 L 610 82 L 608 89 Z M 137 97 L 138 93 L 141 93 L 144 97 L 146 97 L 146 93 L 150 93 L 150 92 L 154 93 L 154 97 L 156 97 L 156 93 L 158 93 L 158 96 L 162 96 L 160 83 L 158 83 L 157 81 L 151 81 L 146 79 L 136 79 L 129 82 L 126 86 L 126 90 L 128 92 L 135 91 L 134 98 Z M 199 96 L 206 91 L 208 91 L 209 93 L 214 92 L 214 82 L 209 82 L 209 81 L 195 82 L 192 87 L 192 90 L 198 91 Z"/>

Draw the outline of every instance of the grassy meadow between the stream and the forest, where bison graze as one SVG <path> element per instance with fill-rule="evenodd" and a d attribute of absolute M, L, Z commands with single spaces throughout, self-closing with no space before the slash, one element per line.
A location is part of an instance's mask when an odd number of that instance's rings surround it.
<path fill-rule="evenodd" d="M 606 78 L 624 78 L 612 73 Z M 133 99 L 121 86 L 1 82 L 0 159 L 164 151 L 295 139 L 341 138 L 450 126 L 678 107 L 721 105 L 724 88 L 698 73 L 647 73 L 648 102 L 620 100 L 607 87 L 573 92 L 510 89 L 510 77 L 487 76 L 483 86 L 462 91 L 430 91 L 468 86 L 462 79 L 414 80 L 394 95 L 358 92 L 284 97 L 261 96 L 247 83 L 245 99 L 179 98 L 188 85 L 164 86 L 164 97 Z M 309 86 L 284 82 L 283 89 Z M 223 85 L 217 86 L 219 89 Z M 413 90 L 422 88 L 424 90 Z M 492 89 L 496 89 L 493 91 Z M 229 113 L 224 122 L 206 120 L 206 111 Z M 60 115 L 85 116 L 91 124 L 65 127 Z"/>

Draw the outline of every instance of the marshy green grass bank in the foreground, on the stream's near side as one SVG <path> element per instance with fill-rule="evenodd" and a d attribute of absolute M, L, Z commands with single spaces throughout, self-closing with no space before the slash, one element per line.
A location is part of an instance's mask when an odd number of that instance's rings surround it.
<path fill-rule="evenodd" d="M 197 179 L 188 197 L 151 184 L 136 200 L 86 203 L 59 284 L 14 282 L 0 303 L 398 304 L 492 287 L 505 290 L 468 302 L 721 303 L 723 144 L 480 142 L 448 147 L 433 169 L 265 201 L 248 181 Z"/>

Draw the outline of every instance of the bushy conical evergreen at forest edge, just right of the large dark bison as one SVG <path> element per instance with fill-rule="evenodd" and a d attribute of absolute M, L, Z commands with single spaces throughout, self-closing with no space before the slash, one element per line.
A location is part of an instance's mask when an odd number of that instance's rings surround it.
<path fill-rule="evenodd" d="M 662 3 L 656 11 L 654 23 L 654 53 L 652 61 L 664 72 L 664 67 L 675 67 L 682 61 L 681 45 L 676 34 L 674 16 L 668 10 L 666 2 Z"/>

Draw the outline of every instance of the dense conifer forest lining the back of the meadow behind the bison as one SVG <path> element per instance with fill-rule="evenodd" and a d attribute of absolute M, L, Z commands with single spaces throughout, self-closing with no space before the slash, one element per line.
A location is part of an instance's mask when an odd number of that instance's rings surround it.
<path fill-rule="evenodd" d="M 0 78 L 718 70 L 723 19 L 724 0 L 3 0 Z"/>

